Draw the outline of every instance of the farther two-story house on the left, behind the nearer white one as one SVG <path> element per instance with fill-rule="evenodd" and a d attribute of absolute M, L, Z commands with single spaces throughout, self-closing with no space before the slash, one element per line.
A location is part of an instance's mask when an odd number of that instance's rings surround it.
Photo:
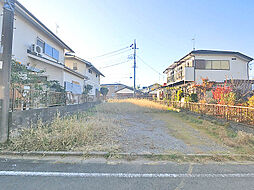
<path fill-rule="evenodd" d="M 96 69 L 92 63 L 75 55 L 66 54 L 65 66 L 77 73 L 80 73 L 81 75 L 84 75 L 85 79 L 82 81 L 80 80 L 80 84 L 83 87 L 85 85 L 91 85 L 93 88 L 89 92 L 89 95 L 93 97 L 94 100 L 99 97 L 100 77 L 104 77 L 104 75 L 98 69 Z"/>

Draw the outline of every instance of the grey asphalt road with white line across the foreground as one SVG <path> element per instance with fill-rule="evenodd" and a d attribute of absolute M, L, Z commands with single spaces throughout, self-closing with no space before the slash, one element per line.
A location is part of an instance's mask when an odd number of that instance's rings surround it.
<path fill-rule="evenodd" d="M 1 190 L 254 189 L 254 164 L 0 159 Z"/>

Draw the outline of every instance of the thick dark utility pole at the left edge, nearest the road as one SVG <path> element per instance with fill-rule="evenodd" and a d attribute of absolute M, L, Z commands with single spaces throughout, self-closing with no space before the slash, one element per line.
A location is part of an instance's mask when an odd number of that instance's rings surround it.
<path fill-rule="evenodd" d="M 0 143 L 9 136 L 9 102 L 14 8 L 16 0 L 5 0 L 0 47 Z"/>

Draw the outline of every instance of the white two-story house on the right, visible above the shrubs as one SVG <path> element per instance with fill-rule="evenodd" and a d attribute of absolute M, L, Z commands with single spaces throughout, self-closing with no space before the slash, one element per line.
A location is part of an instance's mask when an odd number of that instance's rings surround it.
<path fill-rule="evenodd" d="M 249 80 L 249 63 L 252 60 L 234 51 L 194 50 L 170 65 L 164 73 L 169 86 L 190 82 L 200 84 L 202 78 L 214 82 Z"/>

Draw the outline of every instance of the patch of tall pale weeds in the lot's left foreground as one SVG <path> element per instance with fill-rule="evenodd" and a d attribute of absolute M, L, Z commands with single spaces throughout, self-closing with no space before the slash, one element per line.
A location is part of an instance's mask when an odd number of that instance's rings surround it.
<path fill-rule="evenodd" d="M 18 134 L 18 135 L 17 135 Z M 117 121 L 94 111 L 60 118 L 51 124 L 38 122 L 13 131 L 0 150 L 12 151 L 117 151 L 121 134 Z"/>

